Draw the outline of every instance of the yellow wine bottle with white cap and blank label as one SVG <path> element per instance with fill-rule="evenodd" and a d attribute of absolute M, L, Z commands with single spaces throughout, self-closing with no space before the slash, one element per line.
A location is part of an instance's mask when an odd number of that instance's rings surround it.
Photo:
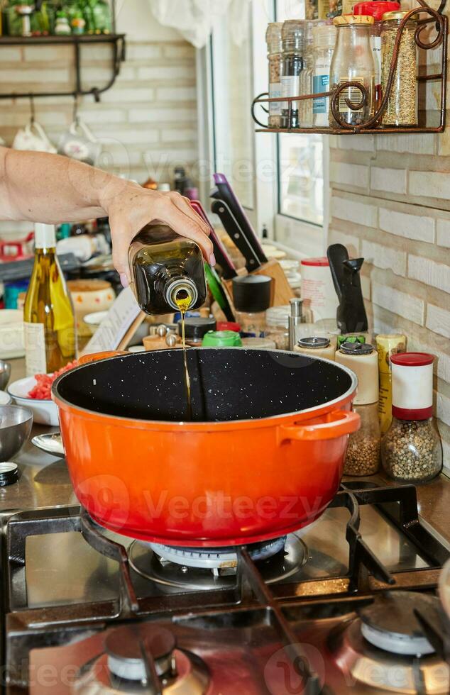
<path fill-rule="evenodd" d="M 35 224 L 35 257 L 23 321 L 29 376 L 50 374 L 75 359 L 75 316 L 57 260 L 53 225 Z"/>

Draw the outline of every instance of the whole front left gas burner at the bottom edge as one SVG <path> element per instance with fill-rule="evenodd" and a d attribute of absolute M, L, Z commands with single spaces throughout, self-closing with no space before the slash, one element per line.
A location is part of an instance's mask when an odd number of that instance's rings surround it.
<path fill-rule="evenodd" d="M 174 635 L 150 623 L 109 630 L 104 653 L 87 662 L 72 686 L 78 695 L 153 692 L 202 695 L 207 691 L 207 666 L 191 652 L 177 650 Z M 147 662 L 147 663 L 146 663 Z M 153 668 L 158 683 L 150 682 Z"/>

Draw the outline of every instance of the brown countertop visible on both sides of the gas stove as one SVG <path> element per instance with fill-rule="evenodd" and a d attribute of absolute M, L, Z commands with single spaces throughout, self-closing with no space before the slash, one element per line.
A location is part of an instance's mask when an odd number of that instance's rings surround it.
<path fill-rule="evenodd" d="M 11 366 L 11 382 L 25 376 L 24 360 L 11 360 Z M 55 430 L 33 426 L 32 436 Z M 20 479 L 16 484 L 0 488 L 0 512 L 78 504 L 65 460 L 45 454 L 34 447 L 30 440 L 15 457 L 15 462 L 20 469 Z M 357 480 L 372 485 L 394 484 L 382 475 Z M 424 521 L 450 542 L 450 479 L 440 475 L 427 484 L 417 486 L 417 496 L 419 512 Z"/>

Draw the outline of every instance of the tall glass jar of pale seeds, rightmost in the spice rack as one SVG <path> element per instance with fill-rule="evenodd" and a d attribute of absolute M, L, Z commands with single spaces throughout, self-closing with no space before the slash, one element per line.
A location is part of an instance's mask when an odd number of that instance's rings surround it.
<path fill-rule="evenodd" d="M 381 30 L 381 83 L 383 94 L 388 83 L 397 30 L 407 12 L 383 14 Z M 381 116 L 381 126 L 417 126 L 417 20 L 411 18 L 402 31 L 397 66 L 390 89 L 388 104 Z"/>

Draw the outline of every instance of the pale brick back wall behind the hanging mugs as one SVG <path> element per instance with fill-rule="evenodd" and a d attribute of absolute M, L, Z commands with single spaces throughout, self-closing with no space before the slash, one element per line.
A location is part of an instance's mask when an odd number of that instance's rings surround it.
<path fill-rule="evenodd" d="M 114 87 L 101 95 L 99 104 L 89 96 L 79 106 L 79 115 L 103 145 L 99 166 L 138 182 L 150 174 L 160 182 L 171 181 L 177 164 L 193 168 L 195 175 L 198 158 L 194 48 L 172 30 L 161 28 L 160 33 L 161 38 L 153 26 L 150 40 L 131 36 Z M 82 48 L 84 88 L 108 82 L 110 52 L 106 45 Z M 43 87 L 62 91 L 71 88 L 73 77 L 71 47 L 0 47 L 0 93 Z M 72 107 L 70 97 L 35 99 L 36 120 L 55 145 L 70 126 Z M 0 137 L 7 145 L 29 118 L 27 99 L 0 101 Z M 0 236 L 25 228 L 29 224 L 0 223 Z"/>

